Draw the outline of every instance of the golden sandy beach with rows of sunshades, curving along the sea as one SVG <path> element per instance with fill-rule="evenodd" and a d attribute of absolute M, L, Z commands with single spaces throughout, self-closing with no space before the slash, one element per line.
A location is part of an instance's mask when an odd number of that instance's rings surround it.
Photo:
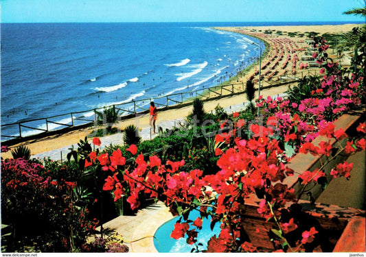
<path fill-rule="evenodd" d="M 238 32 L 248 34 L 250 36 L 256 36 L 266 41 L 270 46 L 269 51 L 266 52 L 266 56 L 262 58 L 262 85 L 277 84 L 282 81 L 284 77 L 299 76 L 301 73 L 308 72 L 309 69 L 316 72 L 317 67 L 308 67 L 308 69 L 300 69 L 301 64 L 305 64 L 305 61 L 301 60 L 301 57 L 306 56 L 306 49 L 310 47 L 306 39 L 306 32 L 315 32 L 319 35 L 324 33 L 343 33 L 352 30 L 357 25 L 310 25 L 310 26 L 271 26 L 271 27 L 220 27 L 218 29 L 225 29 L 231 32 Z M 267 34 L 264 32 L 267 31 Z M 271 34 L 268 32 L 271 31 Z M 296 36 L 288 36 L 288 33 L 297 33 Z M 304 74 L 303 74 L 304 75 Z M 252 78 L 254 82 L 258 82 L 258 62 L 251 66 L 251 69 L 246 70 L 243 73 L 239 73 L 237 76 L 231 77 L 231 83 L 244 83 L 247 79 Z M 277 95 L 284 93 L 288 88 L 287 85 L 270 88 L 268 90 L 261 90 L 261 94 L 264 96 Z M 236 90 L 240 90 L 240 87 Z M 205 110 L 210 112 L 220 103 L 223 108 L 232 106 L 234 104 L 243 103 L 247 101 L 244 93 L 241 95 L 235 95 L 231 97 L 222 97 L 214 101 L 205 101 Z M 165 110 L 159 112 L 159 118 L 157 125 L 161 121 L 169 121 L 172 119 L 179 119 L 187 117 L 187 114 L 192 112 L 192 106 L 186 106 L 183 108 L 176 108 L 172 110 Z M 129 124 L 135 124 L 139 128 L 149 127 L 148 114 L 142 114 L 139 117 L 133 119 L 124 120 L 117 124 L 117 127 L 126 127 Z M 36 140 L 30 140 L 19 145 L 27 145 L 30 148 L 32 154 L 39 154 L 52 149 L 58 149 L 67 145 L 78 143 L 80 139 L 88 136 L 91 133 L 91 129 L 75 130 L 68 132 L 67 134 L 47 136 L 45 138 L 39 138 Z M 12 145 L 11 147 L 16 147 Z M 11 157 L 10 153 L 1 154 L 3 158 Z"/>

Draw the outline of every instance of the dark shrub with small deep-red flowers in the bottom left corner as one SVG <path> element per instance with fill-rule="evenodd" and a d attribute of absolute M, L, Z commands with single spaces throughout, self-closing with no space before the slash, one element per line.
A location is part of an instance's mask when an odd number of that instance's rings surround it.
<path fill-rule="evenodd" d="M 76 183 L 46 175 L 29 160 L 1 161 L 1 223 L 11 230 L 1 242 L 6 252 L 75 252 L 95 229 L 89 211 L 75 205 Z"/>

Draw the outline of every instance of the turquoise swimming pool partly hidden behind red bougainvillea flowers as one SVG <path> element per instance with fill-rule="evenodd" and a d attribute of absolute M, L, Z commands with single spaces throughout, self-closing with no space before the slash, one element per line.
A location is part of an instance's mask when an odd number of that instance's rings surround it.
<path fill-rule="evenodd" d="M 198 210 L 193 210 L 190 213 L 190 220 L 194 221 L 197 217 L 200 217 L 200 212 Z M 155 232 L 154 238 L 154 246 L 158 252 L 180 252 L 180 253 L 190 253 L 194 248 L 194 245 L 188 245 L 186 242 L 187 236 L 185 238 L 179 238 L 178 240 L 171 238 L 170 234 L 174 230 L 174 224 L 179 219 L 179 217 L 175 217 L 170 221 L 165 222 L 161 225 L 157 232 Z M 198 249 L 203 250 L 207 249 L 207 242 L 211 236 L 218 236 L 220 234 L 220 223 L 216 223 L 214 226 L 214 230 L 210 228 L 211 220 L 203 219 L 202 229 L 198 231 L 198 237 L 196 243 L 202 243 L 203 246 L 199 246 Z M 195 228 L 191 225 L 191 229 Z"/>

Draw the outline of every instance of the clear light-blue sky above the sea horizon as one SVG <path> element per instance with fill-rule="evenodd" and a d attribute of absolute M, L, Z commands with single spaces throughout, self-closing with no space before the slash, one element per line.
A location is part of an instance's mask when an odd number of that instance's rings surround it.
<path fill-rule="evenodd" d="M 363 21 L 365 0 L 0 0 L 1 22 Z"/>

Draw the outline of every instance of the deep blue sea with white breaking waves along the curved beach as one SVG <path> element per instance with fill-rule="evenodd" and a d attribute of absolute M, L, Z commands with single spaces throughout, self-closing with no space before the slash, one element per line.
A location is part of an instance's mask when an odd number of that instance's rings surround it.
<path fill-rule="evenodd" d="M 133 100 L 216 86 L 255 62 L 259 48 L 212 27 L 311 24 L 325 23 L 4 23 L 1 125 L 81 111 L 73 117 L 92 119 L 95 108 L 131 110 Z M 45 129 L 45 121 L 28 126 Z M 22 136 L 34 132 L 22 127 Z M 19 126 L 1 127 L 3 135 L 19 135 Z"/>

